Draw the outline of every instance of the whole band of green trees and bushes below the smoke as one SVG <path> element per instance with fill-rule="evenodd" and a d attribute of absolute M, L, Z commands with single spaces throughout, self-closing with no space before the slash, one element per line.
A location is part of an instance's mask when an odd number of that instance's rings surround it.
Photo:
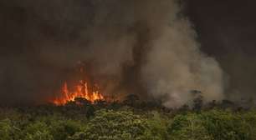
<path fill-rule="evenodd" d="M 0 140 L 255 139 L 256 111 L 216 102 L 202 107 L 198 99 L 192 109 L 172 110 L 137 100 L 82 99 L 63 107 L 0 107 Z"/>

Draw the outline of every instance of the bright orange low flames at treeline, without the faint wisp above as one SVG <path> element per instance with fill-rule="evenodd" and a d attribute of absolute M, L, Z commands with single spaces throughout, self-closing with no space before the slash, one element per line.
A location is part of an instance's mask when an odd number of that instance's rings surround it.
<path fill-rule="evenodd" d="M 75 98 L 80 97 L 90 102 L 95 102 L 97 100 L 104 100 L 104 97 L 99 92 L 99 87 L 94 85 L 90 87 L 88 82 L 80 80 L 79 83 L 74 86 L 74 88 L 69 89 L 68 83 L 64 82 L 61 90 L 61 96 L 53 100 L 55 105 L 64 105 L 67 102 L 74 101 Z"/>

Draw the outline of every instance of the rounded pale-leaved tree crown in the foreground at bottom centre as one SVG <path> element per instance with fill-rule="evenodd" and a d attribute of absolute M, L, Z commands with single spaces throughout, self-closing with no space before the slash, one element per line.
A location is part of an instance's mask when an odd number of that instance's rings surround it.
<path fill-rule="evenodd" d="M 85 130 L 91 140 L 135 140 L 146 132 L 146 120 L 133 112 L 100 110 Z"/>

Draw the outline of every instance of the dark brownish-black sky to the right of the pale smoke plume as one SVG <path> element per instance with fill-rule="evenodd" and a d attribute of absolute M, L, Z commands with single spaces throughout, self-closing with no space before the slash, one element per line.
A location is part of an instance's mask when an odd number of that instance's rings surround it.
<path fill-rule="evenodd" d="M 187 1 L 202 50 L 220 62 L 232 96 L 234 92 L 256 95 L 255 5 L 253 0 Z"/>

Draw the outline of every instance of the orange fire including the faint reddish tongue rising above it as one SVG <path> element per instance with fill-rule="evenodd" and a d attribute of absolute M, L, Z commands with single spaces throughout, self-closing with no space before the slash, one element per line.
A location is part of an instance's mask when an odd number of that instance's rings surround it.
<path fill-rule="evenodd" d="M 84 62 L 78 62 L 78 66 L 74 68 L 80 80 L 65 81 L 62 85 L 59 95 L 50 99 L 57 106 L 62 106 L 68 102 L 74 102 L 76 98 L 95 102 L 105 100 L 105 97 L 100 92 L 100 87 L 90 77 L 90 66 L 86 66 Z M 73 83 L 73 84 L 72 84 Z"/>

